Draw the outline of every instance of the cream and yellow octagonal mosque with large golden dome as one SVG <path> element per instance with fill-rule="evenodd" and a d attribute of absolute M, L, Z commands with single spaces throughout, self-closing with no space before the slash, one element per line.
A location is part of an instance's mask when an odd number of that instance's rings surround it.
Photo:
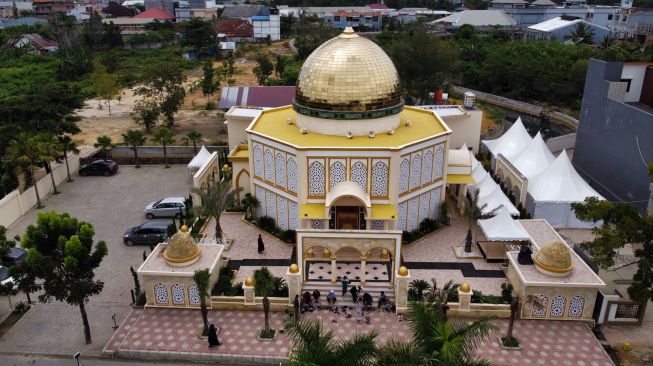
<path fill-rule="evenodd" d="M 230 140 L 246 140 L 229 156 L 234 184 L 258 198 L 259 217 L 297 231 L 300 269 L 342 251 L 396 271 L 401 231 L 438 217 L 446 183 L 473 183 L 471 152 L 449 152 L 455 131 L 405 106 L 388 55 L 351 28 L 306 59 L 292 105 L 250 113 L 242 137 L 228 123 Z M 480 123 L 465 133 L 478 144 Z"/>

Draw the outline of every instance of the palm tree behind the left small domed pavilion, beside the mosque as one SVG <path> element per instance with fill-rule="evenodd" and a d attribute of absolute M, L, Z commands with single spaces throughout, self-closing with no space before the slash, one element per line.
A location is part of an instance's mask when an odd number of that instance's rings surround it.
<path fill-rule="evenodd" d="M 240 189 L 240 188 L 239 188 Z M 238 190 L 239 190 L 238 189 Z M 193 188 L 192 192 L 200 197 L 201 206 L 196 208 L 197 215 L 215 219 L 215 239 L 222 238 L 220 216 L 227 207 L 231 206 L 236 198 L 237 189 L 226 179 L 209 182 L 206 191 Z"/>

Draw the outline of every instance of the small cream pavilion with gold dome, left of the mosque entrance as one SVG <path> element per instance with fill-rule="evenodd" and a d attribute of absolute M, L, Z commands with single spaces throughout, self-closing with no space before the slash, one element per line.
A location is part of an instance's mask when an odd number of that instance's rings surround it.
<path fill-rule="evenodd" d="M 208 269 L 213 288 L 220 268 L 223 245 L 197 244 L 187 226 L 182 226 L 168 243 L 157 245 L 138 268 L 146 306 L 199 307 L 199 291 L 193 275 Z M 211 302 L 208 302 L 209 308 Z"/>

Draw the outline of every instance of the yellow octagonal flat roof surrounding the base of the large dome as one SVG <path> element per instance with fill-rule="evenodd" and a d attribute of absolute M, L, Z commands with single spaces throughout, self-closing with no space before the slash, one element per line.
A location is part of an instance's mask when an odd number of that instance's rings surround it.
<path fill-rule="evenodd" d="M 437 135 L 450 133 L 449 127 L 431 111 L 405 107 L 400 114 L 401 124 L 394 134 L 377 134 L 375 137 L 322 135 L 317 133 L 302 134 L 296 124 L 288 124 L 288 119 L 297 120 L 292 106 L 268 109 L 254 120 L 247 129 L 254 135 L 268 137 L 298 149 L 341 148 L 355 149 L 401 149 Z M 410 121 L 410 126 L 405 122 Z M 356 122 L 352 122 L 356 123 Z"/>

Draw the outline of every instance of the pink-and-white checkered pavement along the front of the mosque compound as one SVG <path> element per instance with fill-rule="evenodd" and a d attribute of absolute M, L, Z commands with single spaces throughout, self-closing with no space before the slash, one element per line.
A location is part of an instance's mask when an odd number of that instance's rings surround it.
<path fill-rule="evenodd" d="M 379 344 L 392 338 L 406 340 L 410 336 L 409 323 L 398 321 L 390 313 L 372 313 L 370 325 L 358 324 L 355 317 L 346 319 L 343 315 L 327 311 L 316 311 L 305 316 L 320 319 L 326 329 L 340 338 L 372 329 L 380 331 L 377 338 Z M 273 328 L 283 327 L 283 313 L 271 313 L 270 318 Z M 209 319 L 222 327 L 219 337 L 224 344 L 220 347 L 208 348 L 206 340 L 197 337 L 202 329 L 198 310 L 132 310 L 104 352 L 142 358 L 278 363 L 292 349 L 289 339 L 283 334 L 274 341 L 260 341 L 256 338 L 258 330 L 263 326 L 262 312 L 209 311 Z M 503 334 L 508 322 L 496 320 L 495 323 L 501 327 Z M 514 334 L 521 340 L 522 350 L 502 350 L 498 341 L 500 334 L 496 334 L 478 347 L 478 356 L 488 358 L 494 365 L 613 365 L 583 323 L 518 321 Z"/>

